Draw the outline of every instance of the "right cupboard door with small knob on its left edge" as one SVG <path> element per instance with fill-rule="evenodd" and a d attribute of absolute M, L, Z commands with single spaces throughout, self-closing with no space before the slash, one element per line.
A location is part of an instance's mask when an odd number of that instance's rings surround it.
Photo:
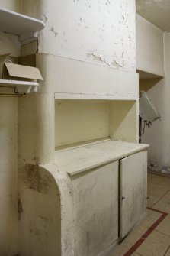
<path fill-rule="evenodd" d="M 147 151 L 120 160 L 120 238 L 146 214 Z"/>

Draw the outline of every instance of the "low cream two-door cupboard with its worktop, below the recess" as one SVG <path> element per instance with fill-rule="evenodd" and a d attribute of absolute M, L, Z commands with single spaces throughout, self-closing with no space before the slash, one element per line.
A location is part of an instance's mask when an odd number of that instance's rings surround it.
<path fill-rule="evenodd" d="M 75 255 L 80 250 L 82 256 L 100 254 L 146 215 L 146 149 L 124 144 L 107 140 L 56 152 L 56 162 L 71 180 Z"/>

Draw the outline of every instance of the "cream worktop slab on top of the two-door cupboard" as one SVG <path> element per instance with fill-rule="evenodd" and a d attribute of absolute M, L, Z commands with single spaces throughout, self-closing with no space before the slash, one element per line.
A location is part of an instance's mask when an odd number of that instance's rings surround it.
<path fill-rule="evenodd" d="M 56 151 L 55 160 L 61 170 L 72 176 L 128 157 L 147 147 L 147 144 L 107 140 Z"/>

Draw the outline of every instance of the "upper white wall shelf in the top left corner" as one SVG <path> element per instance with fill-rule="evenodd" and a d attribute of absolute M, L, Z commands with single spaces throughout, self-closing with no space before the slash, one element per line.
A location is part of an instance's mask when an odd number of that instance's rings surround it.
<path fill-rule="evenodd" d="M 0 31 L 15 34 L 34 34 L 44 28 L 43 21 L 0 8 Z"/>

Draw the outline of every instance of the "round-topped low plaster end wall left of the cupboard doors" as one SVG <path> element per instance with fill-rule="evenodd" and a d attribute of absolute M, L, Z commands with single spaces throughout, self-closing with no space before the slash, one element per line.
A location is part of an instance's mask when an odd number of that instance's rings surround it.
<path fill-rule="evenodd" d="M 73 255 L 72 190 L 54 164 L 26 164 L 19 175 L 20 255 Z"/>

